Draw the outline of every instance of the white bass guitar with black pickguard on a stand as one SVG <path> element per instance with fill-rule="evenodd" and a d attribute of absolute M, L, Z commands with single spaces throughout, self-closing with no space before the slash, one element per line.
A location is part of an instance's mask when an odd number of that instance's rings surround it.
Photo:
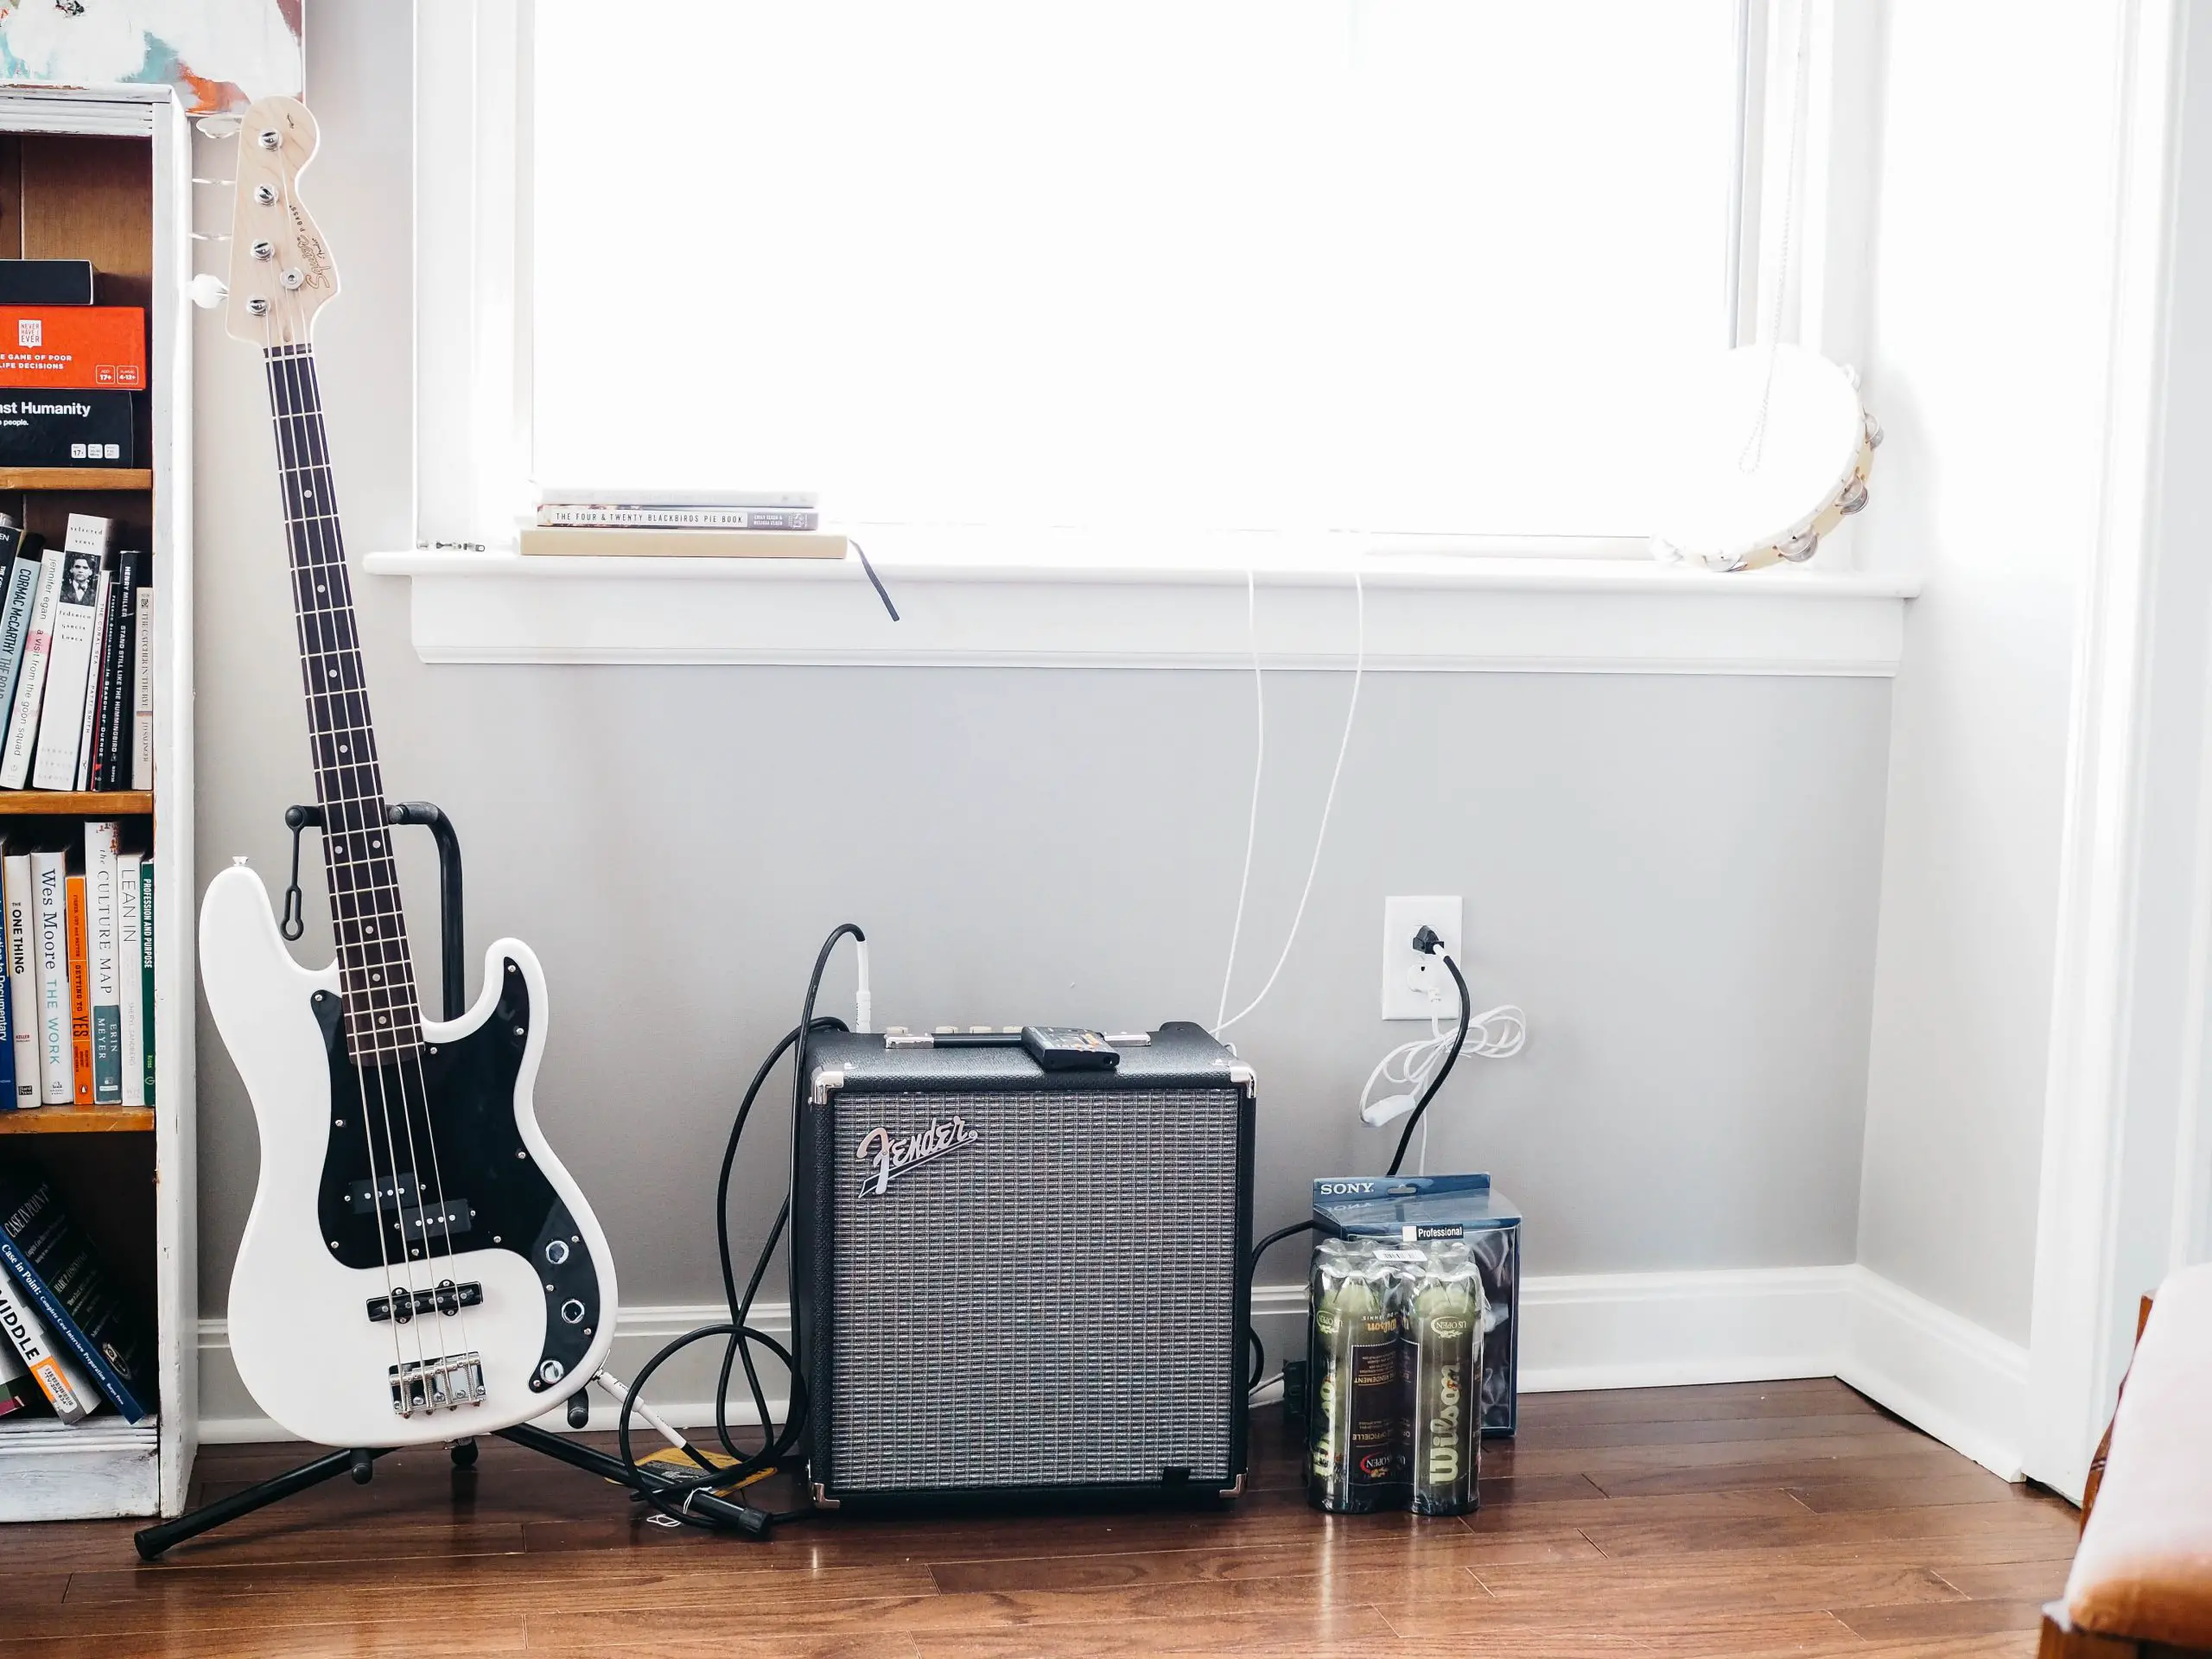
<path fill-rule="evenodd" d="M 531 1106 L 538 958 L 495 942 L 460 1020 L 416 998 L 310 345 L 338 292 L 296 190 L 314 146 L 299 100 L 241 117 L 228 327 L 268 372 L 338 960 L 301 969 L 241 863 L 208 883 L 199 969 L 261 1130 L 230 1276 L 239 1378 L 305 1440 L 403 1447 L 584 1387 L 615 1334 L 615 1267 Z"/>

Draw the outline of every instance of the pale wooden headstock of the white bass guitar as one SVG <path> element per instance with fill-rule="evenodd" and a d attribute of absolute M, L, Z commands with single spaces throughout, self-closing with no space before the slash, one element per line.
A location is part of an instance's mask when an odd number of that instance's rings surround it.
<path fill-rule="evenodd" d="M 263 97 L 239 115 L 239 195 L 230 219 L 232 338 L 307 345 L 314 314 L 338 292 L 338 265 L 299 199 L 316 126 L 296 97 Z"/>

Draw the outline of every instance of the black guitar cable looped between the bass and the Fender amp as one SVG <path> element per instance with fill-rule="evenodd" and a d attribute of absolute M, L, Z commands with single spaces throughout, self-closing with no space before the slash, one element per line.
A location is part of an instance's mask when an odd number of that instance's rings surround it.
<path fill-rule="evenodd" d="M 737 1502 L 734 1506 L 739 1511 L 739 1517 L 734 1522 L 728 1522 L 690 1509 L 688 1500 L 699 1491 L 719 1493 L 721 1489 L 734 1486 L 743 1480 L 752 1480 L 754 1475 L 781 1469 L 785 1458 L 790 1458 L 792 1449 L 799 1444 L 799 1436 L 805 1433 L 807 1427 L 807 1387 L 799 1369 L 799 1356 L 794 1352 L 796 1338 L 792 1347 L 783 1347 L 783 1343 L 779 1343 L 768 1332 L 757 1329 L 748 1321 L 752 1318 L 752 1301 L 761 1290 L 761 1279 L 768 1276 L 768 1263 L 776 1252 L 776 1243 L 783 1239 L 783 1228 L 792 1219 L 790 1181 L 796 1181 L 796 1170 L 799 1170 L 799 1113 L 803 1110 L 805 1102 L 805 1068 L 801 1064 L 805 1055 L 805 1044 L 801 1044 L 801 1033 L 814 1035 L 818 1031 L 849 1029 L 843 1020 L 836 1018 L 821 1018 L 821 1020 L 814 1018 L 814 998 L 821 993 L 823 969 L 830 964 L 830 951 L 836 949 L 836 942 L 847 933 L 856 942 L 867 940 L 867 933 L 863 933 L 852 922 L 838 925 L 836 929 L 832 929 L 830 938 L 823 940 L 821 953 L 814 958 L 814 973 L 807 980 L 807 998 L 801 1009 L 799 1024 L 783 1033 L 776 1046 L 768 1051 L 768 1057 L 761 1062 L 759 1071 L 752 1073 L 752 1082 L 745 1086 L 745 1097 L 739 1102 L 737 1117 L 730 1124 L 730 1139 L 721 1152 L 721 1172 L 714 1179 L 714 1245 L 717 1245 L 717 1259 L 721 1263 L 721 1292 L 723 1301 L 730 1307 L 730 1318 L 714 1325 L 701 1325 L 699 1329 L 692 1332 L 684 1332 L 684 1336 L 677 1336 L 672 1343 L 661 1347 L 650 1360 L 646 1360 L 646 1365 L 637 1371 L 637 1378 L 630 1383 L 630 1389 L 622 1400 L 622 1416 L 615 1420 L 615 1433 L 622 1447 L 622 1462 L 635 1480 L 637 1495 L 644 1502 L 653 1504 L 653 1509 L 657 1509 L 661 1515 L 684 1522 L 686 1526 L 703 1526 L 708 1531 L 734 1528 L 748 1537 L 765 1537 L 768 1528 L 774 1522 L 801 1520 L 814 1513 L 812 1509 L 774 1513 Z M 752 1104 L 759 1099 L 763 1084 L 768 1084 L 768 1075 L 776 1068 L 776 1062 L 783 1060 L 785 1053 L 792 1053 L 790 1181 L 785 1181 L 785 1194 L 781 1208 L 776 1210 L 776 1221 L 774 1225 L 770 1225 L 768 1239 L 761 1243 L 761 1254 L 754 1256 L 752 1276 L 745 1281 L 745 1290 L 741 1294 L 737 1290 L 737 1270 L 730 1261 L 730 1170 L 737 1166 L 737 1146 L 745 1133 L 745 1119 L 752 1117 Z M 699 1464 L 697 1475 L 666 1475 L 661 1471 L 655 1471 L 655 1480 L 648 1480 L 639 1471 L 637 1455 L 630 1449 L 633 1402 L 644 1394 L 646 1380 L 657 1369 L 661 1369 L 661 1365 L 666 1365 L 670 1358 L 681 1354 L 692 1343 L 703 1343 L 714 1336 L 723 1338 L 721 1376 L 714 1387 L 714 1438 L 721 1442 L 721 1449 L 730 1458 L 734 1458 L 734 1462 L 717 1469 L 703 1455 L 692 1451 L 690 1453 L 692 1462 Z M 783 1369 L 790 1374 L 792 1394 L 781 1425 L 774 1422 L 774 1416 L 768 1409 L 768 1391 L 761 1387 L 761 1376 L 752 1360 L 754 1343 L 774 1354 L 776 1360 L 783 1365 Z M 739 1365 L 745 1369 L 745 1389 L 752 1394 L 752 1409 L 761 1422 L 761 1444 L 754 1451 L 741 1451 L 734 1436 L 730 1433 L 730 1371 Z M 728 1504 L 730 1500 L 723 1502 Z"/>

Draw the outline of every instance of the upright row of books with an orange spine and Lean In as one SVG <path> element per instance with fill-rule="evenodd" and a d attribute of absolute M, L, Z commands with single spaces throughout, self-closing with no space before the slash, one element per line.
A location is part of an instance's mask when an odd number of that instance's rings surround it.
<path fill-rule="evenodd" d="M 0 843 L 0 1099 L 153 1106 L 153 858 L 117 825 L 82 852 Z"/>

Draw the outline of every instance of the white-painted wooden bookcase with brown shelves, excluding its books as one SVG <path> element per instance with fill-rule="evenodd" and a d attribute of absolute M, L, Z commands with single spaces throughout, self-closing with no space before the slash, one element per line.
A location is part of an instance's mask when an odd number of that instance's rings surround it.
<path fill-rule="evenodd" d="M 144 467 L 0 467 L 0 507 L 58 544 L 71 513 L 113 524 L 150 555 L 155 593 L 155 790 L 0 792 L 0 830 L 62 847 L 124 818 L 155 872 L 155 1106 L 0 1110 L 0 1161 L 33 1168 L 153 1323 L 159 1413 L 0 1420 L 0 1522 L 177 1513 L 199 1431 L 197 1181 L 192 1175 L 192 327 L 190 135 L 166 86 L 0 84 L 0 259 L 88 259 L 102 305 L 142 305 Z M 159 818 L 150 825 L 153 818 Z M 4 1540 L 4 1528 L 0 1528 Z M 7 1544 L 0 1542 L 0 1553 Z"/>

